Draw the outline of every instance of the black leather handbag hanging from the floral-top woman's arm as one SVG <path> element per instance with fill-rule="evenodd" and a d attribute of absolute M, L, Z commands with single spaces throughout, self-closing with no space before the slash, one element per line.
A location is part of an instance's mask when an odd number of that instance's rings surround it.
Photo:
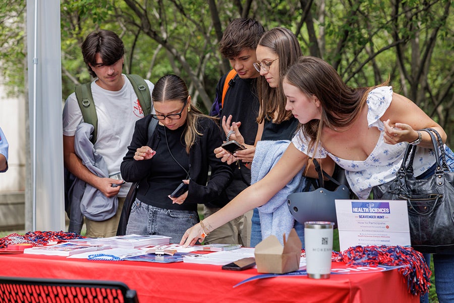
<path fill-rule="evenodd" d="M 422 131 L 432 138 L 435 174 L 427 179 L 414 177 L 413 159 L 417 146 L 409 144 L 395 179 L 375 186 L 372 189 L 374 198 L 407 201 L 413 248 L 427 253 L 454 254 L 454 172 L 446 165 L 438 132 L 431 128 Z"/>

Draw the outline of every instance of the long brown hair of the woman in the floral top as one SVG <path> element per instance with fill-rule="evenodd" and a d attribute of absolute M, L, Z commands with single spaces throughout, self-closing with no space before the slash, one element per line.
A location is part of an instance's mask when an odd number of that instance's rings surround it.
<path fill-rule="evenodd" d="M 352 88 L 344 83 L 331 65 L 310 56 L 299 58 L 287 70 L 283 80 L 298 87 L 308 97 L 315 95 L 320 101 L 320 120 L 300 125 L 302 135 L 309 140 L 309 150 L 318 148 L 323 127 L 349 127 L 360 116 L 369 91 L 388 84 L 386 81 L 373 87 Z"/>

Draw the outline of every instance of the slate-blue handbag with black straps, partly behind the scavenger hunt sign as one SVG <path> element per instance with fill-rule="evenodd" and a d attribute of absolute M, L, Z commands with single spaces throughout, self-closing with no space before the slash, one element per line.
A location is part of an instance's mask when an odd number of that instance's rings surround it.
<path fill-rule="evenodd" d="M 315 170 L 318 172 L 318 180 L 308 178 L 303 192 L 294 192 L 287 196 L 287 205 L 295 220 L 301 224 L 308 221 L 327 221 L 334 222 L 334 228 L 336 228 L 337 217 L 334 200 L 352 198 L 345 179 L 345 171 L 336 167 L 333 174 L 346 182 L 346 184 L 342 184 L 324 172 L 315 159 L 313 162 Z M 330 182 L 324 181 L 323 175 Z"/>

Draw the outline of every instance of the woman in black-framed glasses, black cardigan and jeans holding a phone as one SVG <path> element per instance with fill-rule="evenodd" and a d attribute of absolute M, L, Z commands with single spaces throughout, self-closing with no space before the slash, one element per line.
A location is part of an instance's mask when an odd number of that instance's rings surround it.
<path fill-rule="evenodd" d="M 137 121 L 121 165 L 124 180 L 140 182 L 126 234 L 164 235 L 172 237 L 171 243 L 179 243 L 184 232 L 199 221 L 197 204 L 216 198 L 232 172 L 213 154 L 222 144 L 219 127 L 191 104 L 180 77 L 160 78 L 151 97 L 155 113 Z M 148 134 L 151 119 L 158 124 Z M 182 183 L 187 189 L 173 195 Z"/>

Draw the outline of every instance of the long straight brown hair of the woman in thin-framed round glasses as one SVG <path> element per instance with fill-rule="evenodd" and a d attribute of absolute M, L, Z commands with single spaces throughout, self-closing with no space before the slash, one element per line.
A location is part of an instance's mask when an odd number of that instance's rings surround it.
<path fill-rule="evenodd" d="M 294 64 L 303 53 L 295 34 L 282 27 L 275 27 L 265 32 L 258 45 L 268 47 L 279 58 L 275 63 L 279 64 L 280 83 L 277 87 L 270 87 L 265 77 L 259 77 L 257 92 L 260 112 L 257 117 L 257 123 L 262 123 L 264 119 L 272 120 L 274 113 L 277 113 L 273 122 L 279 124 L 292 117 L 292 113 L 286 111 L 286 96 L 283 94 L 281 85 L 282 77 L 285 75 L 287 68 Z"/>

